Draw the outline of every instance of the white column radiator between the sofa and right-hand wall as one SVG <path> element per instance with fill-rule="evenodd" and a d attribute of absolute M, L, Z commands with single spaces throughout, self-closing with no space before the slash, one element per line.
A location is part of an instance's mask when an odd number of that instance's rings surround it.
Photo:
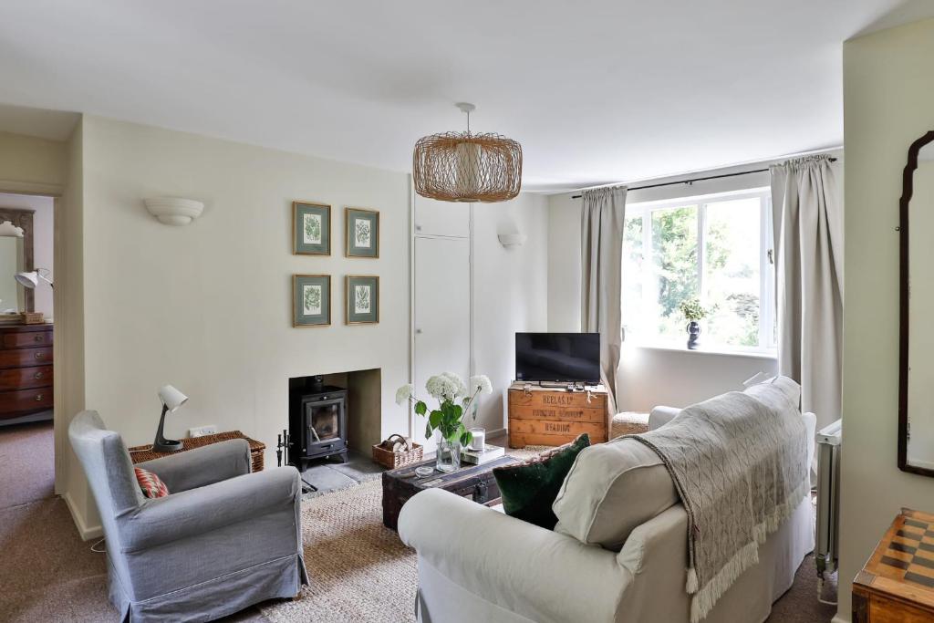
<path fill-rule="evenodd" d="M 840 452 L 842 420 L 817 432 L 817 574 L 837 570 L 840 534 Z"/>

